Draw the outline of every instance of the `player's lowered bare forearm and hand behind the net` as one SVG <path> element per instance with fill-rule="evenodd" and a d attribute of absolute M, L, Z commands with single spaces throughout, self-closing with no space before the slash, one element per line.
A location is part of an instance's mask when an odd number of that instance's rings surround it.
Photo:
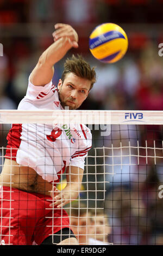
<path fill-rule="evenodd" d="M 76 166 L 67 166 L 67 186 L 61 191 L 56 187 L 53 187 L 51 197 L 53 198 L 54 203 L 50 205 L 51 207 L 60 208 L 70 203 L 70 201 L 78 198 L 80 188 L 82 186 L 83 172 L 84 170 L 82 168 Z"/>

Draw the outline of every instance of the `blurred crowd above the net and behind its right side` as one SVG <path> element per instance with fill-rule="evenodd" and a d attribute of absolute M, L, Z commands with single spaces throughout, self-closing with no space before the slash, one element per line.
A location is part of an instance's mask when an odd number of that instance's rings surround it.
<path fill-rule="evenodd" d="M 64 22 L 74 26 L 79 34 L 79 49 L 70 50 L 66 57 L 82 53 L 92 67 L 96 66 L 97 82 L 80 109 L 163 110 L 163 57 L 158 54 L 163 32 L 151 25 L 155 22 L 156 27 L 161 23 L 162 4 L 161 0 L 154 6 L 150 0 L 1 0 L 0 43 L 4 52 L 0 57 L 0 109 L 17 109 L 26 95 L 30 72 L 40 54 L 53 43 L 53 25 Z M 155 20 L 153 12 L 157 14 Z M 103 22 L 124 23 L 128 35 L 128 51 L 121 61 L 114 64 L 97 61 L 89 51 L 89 34 Z M 140 27 L 141 32 L 136 29 L 139 22 L 144 24 Z M 66 57 L 55 66 L 55 85 L 61 77 Z M 8 126 L 3 126 L 2 131 L 1 125 L 1 146 L 6 144 L 7 132 Z M 108 183 L 104 207 L 111 230 L 105 242 L 163 244 L 163 209 L 158 197 L 159 184 L 163 182 L 162 134 L 160 126 L 146 127 L 145 130 L 115 126 L 111 137 L 103 139 L 102 144 L 111 148 L 111 144 L 119 147 L 125 138 L 123 142 L 127 148 L 123 156 L 128 156 L 129 139 L 133 138 L 133 148 L 137 146 L 137 140 L 142 147 L 146 147 L 147 141 L 149 147 L 148 152 L 143 148 L 139 152 L 142 156 L 139 165 L 135 165 L 137 159 L 134 157 L 133 165 L 129 157 L 123 157 L 126 164 L 122 165 L 121 150 L 116 151 L 115 159 L 106 158 L 105 178 Z M 99 134 L 93 139 L 97 143 Z M 156 151 L 153 149 L 154 140 Z M 106 156 L 111 154 L 109 150 L 105 153 Z M 137 152 L 133 154 L 137 156 Z M 147 159 L 147 154 L 155 158 Z M 113 165 L 115 174 L 110 175 Z M 100 201 L 98 203 L 102 207 Z"/>

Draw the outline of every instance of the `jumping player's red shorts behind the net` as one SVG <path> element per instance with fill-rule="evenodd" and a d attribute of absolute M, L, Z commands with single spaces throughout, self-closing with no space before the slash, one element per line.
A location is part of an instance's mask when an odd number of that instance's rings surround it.
<path fill-rule="evenodd" d="M 52 209 L 52 198 L 3 187 L 0 191 L 0 237 L 5 245 L 40 245 L 49 235 L 69 228 L 65 210 Z"/>

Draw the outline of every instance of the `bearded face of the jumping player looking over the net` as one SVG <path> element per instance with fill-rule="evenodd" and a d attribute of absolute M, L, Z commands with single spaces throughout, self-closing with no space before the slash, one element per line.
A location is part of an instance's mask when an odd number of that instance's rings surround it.
<path fill-rule="evenodd" d="M 68 106 L 69 109 L 78 109 L 87 98 L 91 82 L 84 78 L 69 73 L 64 82 L 59 80 L 58 91 L 62 107 Z"/>

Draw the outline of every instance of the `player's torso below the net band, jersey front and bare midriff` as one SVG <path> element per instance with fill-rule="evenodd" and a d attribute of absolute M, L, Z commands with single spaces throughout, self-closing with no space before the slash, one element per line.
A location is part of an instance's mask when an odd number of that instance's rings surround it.
<path fill-rule="evenodd" d="M 52 181 L 58 181 L 58 174 L 64 172 L 65 166 L 70 164 L 71 156 L 77 155 L 75 152 L 78 151 L 79 140 L 84 135 L 75 124 L 20 126 L 16 161 L 5 159 L 0 183 L 32 193 L 50 195 Z"/>

